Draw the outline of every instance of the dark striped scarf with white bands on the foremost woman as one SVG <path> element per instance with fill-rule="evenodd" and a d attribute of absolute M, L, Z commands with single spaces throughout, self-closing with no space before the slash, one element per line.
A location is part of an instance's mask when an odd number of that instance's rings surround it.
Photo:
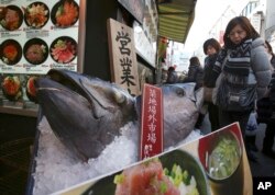
<path fill-rule="evenodd" d="M 240 45 L 238 45 L 234 49 L 226 49 L 223 47 L 219 53 L 213 70 L 218 73 L 220 73 L 222 70 L 224 73 L 228 74 L 243 77 L 249 76 L 251 69 L 251 46 L 252 39 L 246 39 Z M 227 61 L 224 61 L 226 58 Z"/>

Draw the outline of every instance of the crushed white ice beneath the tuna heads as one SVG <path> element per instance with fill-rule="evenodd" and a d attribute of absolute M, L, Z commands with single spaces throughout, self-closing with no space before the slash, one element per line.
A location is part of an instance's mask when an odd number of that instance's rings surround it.
<path fill-rule="evenodd" d="M 139 130 L 136 123 L 133 122 L 122 127 L 120 129 L 122 136 L 116 137 L 97 159 L 89 159 L 88 163 L 72 156 L 56 138 L 45 117 L 40 122 L 37 129 L 40 130 L 37 156 L 34 158 L 35 171 L 32 173 L 34 195 L 51 194 L 108 172 L 121 170 L 136 162 L 139 158 Z M 201 137 L 200 130 L 193 130 L 180 145 L 199 137 Z"/>

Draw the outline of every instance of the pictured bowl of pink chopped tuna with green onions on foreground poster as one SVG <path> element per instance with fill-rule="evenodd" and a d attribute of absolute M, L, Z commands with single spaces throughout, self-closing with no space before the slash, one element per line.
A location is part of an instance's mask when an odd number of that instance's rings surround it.
<path fill-rule="evenodd" d="M 209 195 L 199 160 L 184 150 L 152 158 L 90 186 L 84 195 Z"/>

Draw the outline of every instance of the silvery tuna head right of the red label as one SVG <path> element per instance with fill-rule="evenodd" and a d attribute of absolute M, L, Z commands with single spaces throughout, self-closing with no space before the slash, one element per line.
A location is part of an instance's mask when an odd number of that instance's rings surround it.
<path fill-rule="evenodd" d="M 163 91 L 164 148 L 177 146 L 194 130 L 202 104 L 202 90 L 195 83 L 160 85 Z M 136 107 L 141 101 L 136 99 Z M 140 112 L 138 112 L 140 116 Z M 140 118 L 140 117 L 139 117 Z"/>

